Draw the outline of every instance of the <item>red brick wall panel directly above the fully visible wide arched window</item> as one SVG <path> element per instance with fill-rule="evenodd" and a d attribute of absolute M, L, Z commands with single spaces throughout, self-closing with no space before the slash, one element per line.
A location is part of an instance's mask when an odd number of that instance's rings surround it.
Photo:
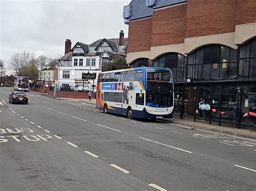
<path fill-rule="evenodd" d="M 237 1 L 188 0 L 186 38 L 235 31 Z"/>

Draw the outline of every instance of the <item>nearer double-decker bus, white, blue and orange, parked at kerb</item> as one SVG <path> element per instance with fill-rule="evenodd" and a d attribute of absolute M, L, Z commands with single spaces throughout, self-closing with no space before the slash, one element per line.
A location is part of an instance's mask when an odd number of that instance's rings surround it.
<path fill-rule="evenodd" d="M 172 118 L 174 103 L 169 68 L 138 67 L 102 72 L 96 108 L 128 118 Z"/>

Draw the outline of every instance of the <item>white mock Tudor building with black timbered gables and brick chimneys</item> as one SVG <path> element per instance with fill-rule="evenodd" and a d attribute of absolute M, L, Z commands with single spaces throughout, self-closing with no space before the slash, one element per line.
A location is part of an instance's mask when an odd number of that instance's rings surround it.
<path fill-rule="evenodd" d="M 127 46 L 127 38 L 124 32 L 120 31 L 119 38 L 99 39 L 89 45 L 77 42 L 71 48 L 71 40 L 65 42 L 65 55 L 59 61 L 59 86 L 75 86 L 76 83 L 83 82 L 83 73 L 90 72 L 95 75 L 97 83 L 98 73 L 102 71 L 105 64 L 112 61 L 116 55 L 124 56 Z M 89 80 L 88 86 L 93 84 Z"/>

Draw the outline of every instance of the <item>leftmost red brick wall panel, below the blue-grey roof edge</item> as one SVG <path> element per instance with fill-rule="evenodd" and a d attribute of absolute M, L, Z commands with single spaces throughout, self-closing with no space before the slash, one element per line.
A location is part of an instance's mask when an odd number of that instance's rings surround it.
<path fill-rule="evenodd" d="M 150 51 L 151 31 L 152 18 L 130 22 L 128 52 Z"/>

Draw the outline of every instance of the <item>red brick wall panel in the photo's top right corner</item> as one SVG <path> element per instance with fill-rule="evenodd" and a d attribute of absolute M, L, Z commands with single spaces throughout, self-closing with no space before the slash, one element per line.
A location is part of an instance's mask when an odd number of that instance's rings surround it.
<path fill-rule="evenodd" d="M 256 0 L 237 0 L 236 24 L 256 22 Z M 245 3 L 246 2 L 246 3 Z M 256 33 L 256 32 L 255 32 Z"/>

